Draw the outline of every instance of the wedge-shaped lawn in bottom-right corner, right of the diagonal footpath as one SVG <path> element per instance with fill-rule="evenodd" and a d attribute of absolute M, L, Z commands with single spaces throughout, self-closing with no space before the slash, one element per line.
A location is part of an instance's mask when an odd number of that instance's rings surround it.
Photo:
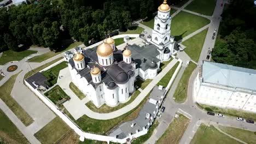
<path fill-rule="evenodd" d="M 225 133 L 236 137 L 237 139 L 240 139 L 246 143 L 256 143 L 256 136 L 254 134 L 254 131 L 244 130 L 244 129 L 238 129 L 233 127 L 224 127 L 219 125 L 219 129 L 224 131 Z"/>

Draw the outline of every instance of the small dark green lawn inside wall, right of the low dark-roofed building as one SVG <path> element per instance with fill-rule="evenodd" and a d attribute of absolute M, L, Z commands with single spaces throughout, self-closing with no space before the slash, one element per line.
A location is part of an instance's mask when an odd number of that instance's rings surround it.
<path fill-rule="evenodd" d="M 54 67 L 48 69 L 48 70 L 45 70 L 42 72 L 42 74 L 47 77 L 47 84 L 48 86 L 53 86 L 55 85 L 55 83 L 57 83 L 57 79 L 59 77 L 59 73 L 60 73 L 60 70 L 64 69 L 67 67 L 67 62 L 66 61 L 63 61 L 57 65 L 55 65 Z"/>

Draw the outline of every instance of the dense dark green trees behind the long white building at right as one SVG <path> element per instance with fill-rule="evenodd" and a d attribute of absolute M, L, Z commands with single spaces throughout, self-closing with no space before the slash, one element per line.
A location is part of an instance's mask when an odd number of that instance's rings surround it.
<path fill-rule="evenodd" d="M 256 7 L 251 0 L 233 0 L 223 14 L 212 52 L 218 63 L 256 69 Z"/>

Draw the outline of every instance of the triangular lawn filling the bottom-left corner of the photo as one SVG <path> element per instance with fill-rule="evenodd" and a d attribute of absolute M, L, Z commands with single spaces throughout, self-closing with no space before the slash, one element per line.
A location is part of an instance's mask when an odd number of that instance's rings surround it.
<path fill-rule="evenodd" d="M 1 109 L 0 119 L 0 137 L 4 141 L 3 143 L 30 143 Z"/>

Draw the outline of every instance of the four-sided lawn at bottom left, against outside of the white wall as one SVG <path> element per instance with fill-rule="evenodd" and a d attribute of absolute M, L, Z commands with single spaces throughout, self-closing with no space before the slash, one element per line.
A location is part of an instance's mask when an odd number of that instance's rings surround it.
<path fill-rule="evenodd" d="M 37 131 L 34 136 L 41 143 L 55 143 L 61 139 L 71 128 L 62 121 L 60 117 L 55 117 L 53 121 L 46 124 L 42 129 Z"/>

